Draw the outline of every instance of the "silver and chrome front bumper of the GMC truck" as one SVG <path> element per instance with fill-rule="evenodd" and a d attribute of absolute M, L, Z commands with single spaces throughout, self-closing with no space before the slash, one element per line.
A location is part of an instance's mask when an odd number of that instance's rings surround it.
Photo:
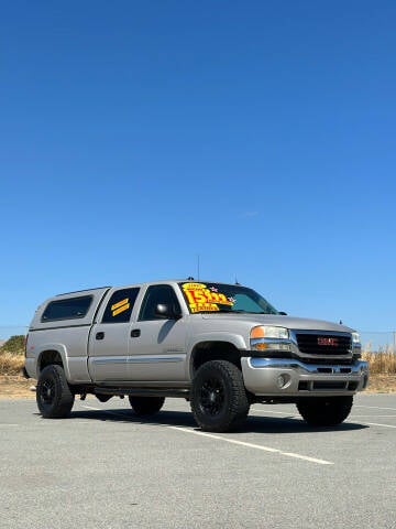
<path fill-rule="evenodd" d="M 294 358 L 241 358 L 244 385 L 260 397 L 344 396 L 363 390 L 369 365 L 307 364 Z"/>

